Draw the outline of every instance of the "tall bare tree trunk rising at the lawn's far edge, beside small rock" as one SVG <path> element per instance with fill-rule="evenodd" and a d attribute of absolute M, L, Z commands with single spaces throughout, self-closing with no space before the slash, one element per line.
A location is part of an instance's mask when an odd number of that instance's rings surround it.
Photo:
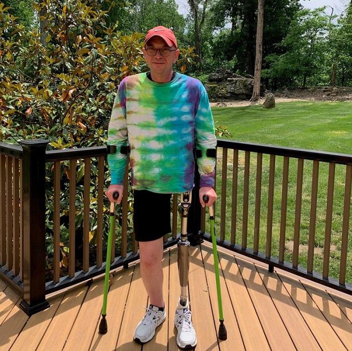
<path fill-rule="evenodd" d="M 260 97 L 260 75 L 262 72 L 262 53 L 263 53 L 263 23 L 264 23 L 264 0 L 258 0 L 256 64 L 254 69 L 253 94 L 250 99 L 250 101 L 252 102 L 258 101 Z"/>

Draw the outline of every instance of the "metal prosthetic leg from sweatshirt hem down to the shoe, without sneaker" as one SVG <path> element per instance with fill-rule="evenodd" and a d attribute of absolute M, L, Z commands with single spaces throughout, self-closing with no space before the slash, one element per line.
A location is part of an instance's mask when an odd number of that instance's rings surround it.
<path fill-rule="evenodd" d="M 179 277 L 181 285 L 180 304 L 186 306 L 188 302 L 188 271 L 190 267 L 190 242 L 187 239 L 187 217 L 188 210 L 191 207 L 192 191 L 181 194 L 181 238 L 178 242 L 178 258 Z"/>

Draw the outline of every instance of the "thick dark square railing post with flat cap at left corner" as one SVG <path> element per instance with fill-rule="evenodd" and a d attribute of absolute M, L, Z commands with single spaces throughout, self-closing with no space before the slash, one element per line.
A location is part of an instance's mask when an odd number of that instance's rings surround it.
<path fill-rule="evenodd" d="M 45 300 L 45 150 L 48 141 L 22 140 L 23 283 L 21 309 L 29 316 L 49 307 Z"/>

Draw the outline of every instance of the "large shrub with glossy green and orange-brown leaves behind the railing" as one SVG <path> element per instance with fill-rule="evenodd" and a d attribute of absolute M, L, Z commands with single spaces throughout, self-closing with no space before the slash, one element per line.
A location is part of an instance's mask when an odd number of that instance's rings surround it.
<path fill-rule="evenodd" d="M 106 10 L 103 6 L 109 6 Z M 126 4 L 125 4 L 126 5 Z M 0 3 L 0 140 L 45 139 L 49 149 L 106 144 L 115 92 L 127 75 L 147 70 L 142 55 L 144 34 L 124 35 L 118 23 L 106 23 L 113 2 L 45 0 L 33 4 L 39 24 L 18 24 Z M 125 9 L 122 8 L 121 11 Z M 43 42 L 42 39 L 45 38 Z M 193 48 L 181 48 L 181 71 L 192 65 Z M 76 160 L 76 269 L 82 265 L 84 178 L 90 175 L 90 249 L 97 235 L 96 162 L 90 172 Z M 60 163 L 61 267 L 70 255 L 70 161 Z M 104 168 L 103 184 L 109 183 Z M 52 268 L 53 164 L 46 164 L 46 243 L 48 279 Z M 129 192 L 129 202 L 132 192 Z M 107 204 L 104 212 L 107 212 Z M 132 235 L 132 208 L 128 232 Z M 105 228 L 108 223 L 105 218 Z M 106 232 L 104 232 L 106 235 Z M 119 237 L 117 240 L 120 240 Z M 116 245 L 116 249 L 119 245 Z M 118 254 L 118 252 L 117 252 Z"/>

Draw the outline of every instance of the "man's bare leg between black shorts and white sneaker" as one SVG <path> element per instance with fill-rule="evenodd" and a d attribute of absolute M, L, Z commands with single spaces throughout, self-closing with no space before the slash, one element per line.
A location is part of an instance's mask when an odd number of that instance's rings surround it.
<path fill-rule="evenodd" d="M 151 242 L 139 242 L 141 258 L 141 275 L 147 290 L 150 304 L 158 307 L 164 306 L 162 295 L 162 238 Z"/>

